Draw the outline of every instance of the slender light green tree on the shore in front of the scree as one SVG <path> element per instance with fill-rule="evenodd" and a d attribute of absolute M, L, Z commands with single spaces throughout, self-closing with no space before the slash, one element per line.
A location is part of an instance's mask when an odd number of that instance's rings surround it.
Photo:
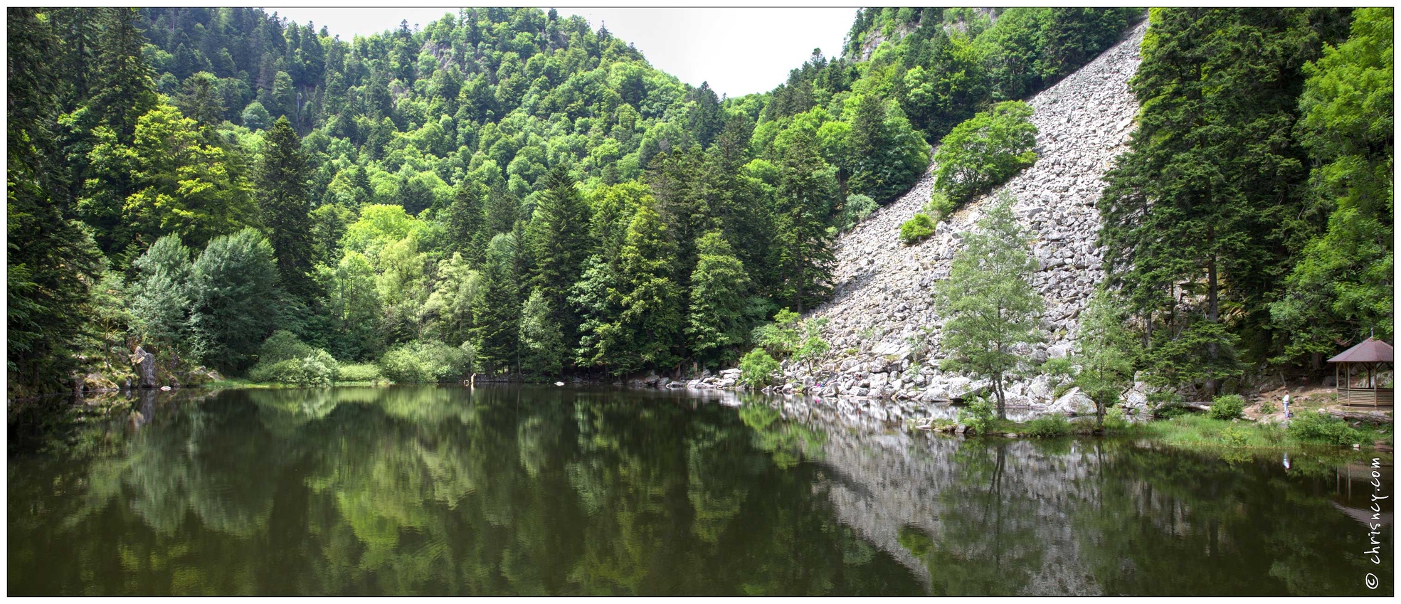
<path fill-rule="evenodd" d="M 1006 377 L 1024 362 L 1014 349 L 1040 339 L 1038 318 L 1045 306 L 1030 283 L 1037 262 L 1012 213 L 1014 202 L 1003 195 L 988 207 L 934 293 L 944 318 L 944 364 L 988 378 L 1000 419 L 1007 416 Z"/>

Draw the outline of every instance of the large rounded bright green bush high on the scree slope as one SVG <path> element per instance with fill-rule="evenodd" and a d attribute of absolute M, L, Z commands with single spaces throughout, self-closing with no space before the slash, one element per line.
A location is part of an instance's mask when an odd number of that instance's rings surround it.
<path fill-rule="evenodd" d="M 1005 101 L 954 126 L 934 154 L 934 186 L 957 206 L 1037 161 L 1031 107 Z"/>

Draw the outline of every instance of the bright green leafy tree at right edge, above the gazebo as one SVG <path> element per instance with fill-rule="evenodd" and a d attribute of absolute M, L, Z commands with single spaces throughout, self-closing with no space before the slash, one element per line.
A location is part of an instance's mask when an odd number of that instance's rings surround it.
<path fill-rule="evenodd" d="M 1358 8 L 1348 41 L 1304 66 L 1296 132 L 1317 161 L 1307 216 L 1327 214 L 1327 227 L 1304 244 L 1269 311 L 1285 357 L 1310 355 L 1314 369 L 1342 342 L 1393 335 L 1391 39 L 1391 10 Z"/>

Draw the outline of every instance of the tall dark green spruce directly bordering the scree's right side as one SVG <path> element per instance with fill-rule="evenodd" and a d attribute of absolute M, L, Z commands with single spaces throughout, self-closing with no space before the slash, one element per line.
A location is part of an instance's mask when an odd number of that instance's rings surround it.
<path fill-rule="evenodd" d="M 1306 154 L 1289 133 L 1302 67 L 1346 13 L 1154 8 L 1131 81 L 1143 111 L 1105 177 L 1101 231 L 1111 284 L 1149 329 L 1153 374 L 1202 384 L 1275 346 L 1268 303 L 1290 265 Z M 1238 308 L 1227 315 L 1223 308 Z"/>

